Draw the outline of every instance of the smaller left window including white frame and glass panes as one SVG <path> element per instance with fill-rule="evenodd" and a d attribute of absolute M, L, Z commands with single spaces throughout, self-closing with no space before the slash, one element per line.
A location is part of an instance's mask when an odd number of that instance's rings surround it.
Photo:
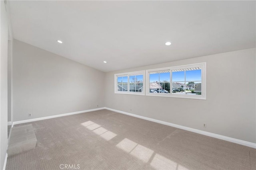
<path fill-rule="evenodd" d="M 115 74 L 115 93 L 145 95 L 144 71 Z"/>

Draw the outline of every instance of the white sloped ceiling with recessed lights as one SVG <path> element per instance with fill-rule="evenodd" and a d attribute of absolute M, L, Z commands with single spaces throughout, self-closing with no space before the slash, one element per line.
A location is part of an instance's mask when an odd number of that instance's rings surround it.
<path fill-rule="evenodd" d="M 15 39 L 104 72 L 256 47 L 255 6 L 255 1 L 10 2 Z"/>

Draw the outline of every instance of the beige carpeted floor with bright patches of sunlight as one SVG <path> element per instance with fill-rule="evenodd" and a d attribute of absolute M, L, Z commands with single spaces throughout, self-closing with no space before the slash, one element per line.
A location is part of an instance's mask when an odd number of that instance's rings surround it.
<path fill-rule="evenodd" d="M 256 149 L 109 110 L 32 125 L 36 149 L 8 157 L 7 170 L 256 169 Z"/>

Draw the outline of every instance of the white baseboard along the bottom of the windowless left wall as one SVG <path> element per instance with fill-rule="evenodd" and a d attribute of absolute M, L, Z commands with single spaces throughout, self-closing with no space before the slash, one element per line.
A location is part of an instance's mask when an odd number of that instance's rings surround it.
<path fill-rule="evenodd" d="M 21 120 L 21 121 L 14 121 L 12 123 L 12 125 L 17 125 L 17 124 L 20 124 L 20 123 L 28 123 L 28 122 L 32 122 L 32 121 L 39 121 L 39 120 L 44 120 L 44 119 L 51 119 L 51 118 L 62 117 L 62 116 L 67 116 L 67 115 L 75 115 L 75 114 L 79 114 L 79 113 L 85 113 L 85 112 L 89 112 L 89 111 L 96 111 L 96 110 L 102 110 L 102 109 L 105 109 L 105 107 L 100 107 L 100 108 L 96 108 L 96 109 L 89 109 L 89 110 L 83 110 L 83 111 L 76 111 L 76 112 L 72 112 L 72 113 L 64 113 L 64 114 L 60 114 L 60 115 L 39 117 L 39 118 L 35 118 L 35 119 L 27 119 L 27 120 Z"/>

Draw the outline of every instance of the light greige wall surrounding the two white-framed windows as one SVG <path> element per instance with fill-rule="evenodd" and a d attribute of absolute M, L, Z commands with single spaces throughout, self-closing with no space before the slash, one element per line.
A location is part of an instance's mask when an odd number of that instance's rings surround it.
<path fill-rule="evenodd" d="M 106 107 L 256 143 L 255 59 L 254 48 L 108 72 Z M 201 62 L 207 64 L 207 100 L 114 94 L 116 73 Z"/>

